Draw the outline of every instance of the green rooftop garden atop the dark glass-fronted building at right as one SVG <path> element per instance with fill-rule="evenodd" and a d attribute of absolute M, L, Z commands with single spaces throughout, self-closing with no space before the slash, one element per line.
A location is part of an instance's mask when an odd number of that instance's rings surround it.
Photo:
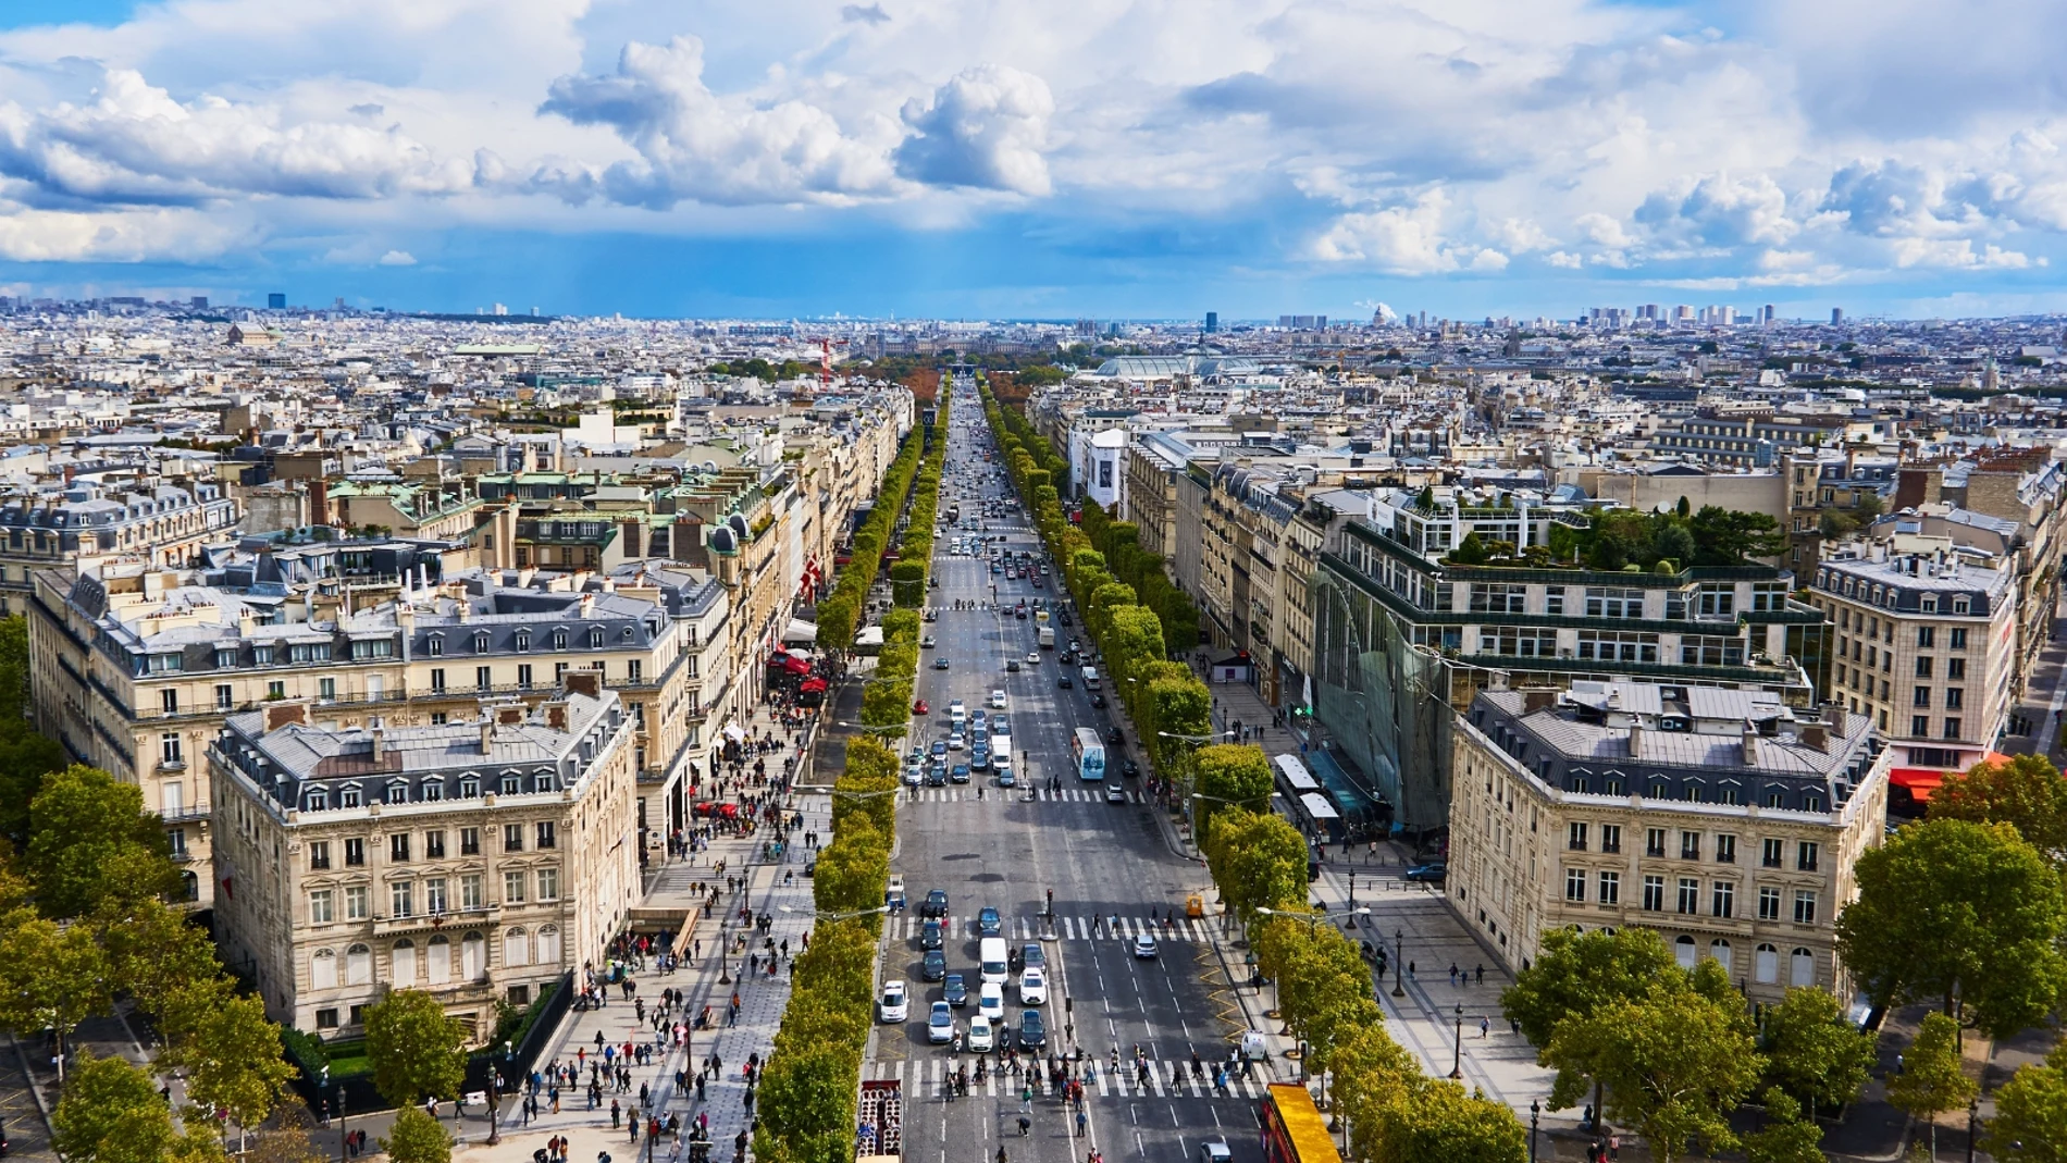
<path fill-rule="evenodd" d="M 1676 574 L 1689 566 L 1749 566 L 1757 558 L 1778 558 L 1786 545 L 1786 533 L 1769 514 L 1738 512 L 1714 504 L 1695 512 L 1687 498 L 1680 498 L 1678 508 L 1662 512 L 1596 508 L 1587 514 L 1583 529 L 1554 521 L 1548 539 L 1528 549 L 1517 549 L 1513 541 L 1482 539 L 1474 531 L 1443 562 L 1486 568 Z"/>

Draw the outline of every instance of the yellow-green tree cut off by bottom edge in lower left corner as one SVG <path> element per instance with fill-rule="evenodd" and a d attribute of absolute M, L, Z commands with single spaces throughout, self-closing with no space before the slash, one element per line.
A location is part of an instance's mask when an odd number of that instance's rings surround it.
<path fill-rule="evenodd" d="M 52 1146 L 74 1163 L 205 1163 L 221 1159 L 209 1130 L 186 1132 L 157 1080 L 120 1058 L 79 1054 L 52 1111 Z"/>

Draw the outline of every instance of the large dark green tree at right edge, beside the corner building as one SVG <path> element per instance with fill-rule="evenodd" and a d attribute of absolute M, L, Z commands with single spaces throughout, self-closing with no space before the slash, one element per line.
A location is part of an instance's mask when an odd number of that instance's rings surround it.
<path fill-rule="evenodd" d="M 2009 824 L 1924 820 L 1867 849 L 1838 952 L 1881 1006 L 1953 1012 L 1988 1037 L 2044 1020 L 2067 981 L 2059 874 Z"/>

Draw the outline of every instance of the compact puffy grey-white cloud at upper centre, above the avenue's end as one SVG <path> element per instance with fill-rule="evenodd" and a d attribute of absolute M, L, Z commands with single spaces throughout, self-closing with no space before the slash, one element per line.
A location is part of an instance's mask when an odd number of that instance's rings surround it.
<path fill-rule="evenodd" d="M 974 186 L 1040 196 L 1050 190 L 1048 83 L 1017 68 L 980 64 L 957 72 L 928 101 L 912 99 L 897 171 L 930 186 Z"/>

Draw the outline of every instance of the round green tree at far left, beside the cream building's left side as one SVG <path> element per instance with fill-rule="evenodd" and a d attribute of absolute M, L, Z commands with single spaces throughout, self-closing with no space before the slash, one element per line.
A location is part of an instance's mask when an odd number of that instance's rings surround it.
<path fill-rule="evenodd" d="M 29 806 L 27 870 L 45 917 L 178 892 L 169 851 L 163 820 L 143 808 L 143 789 L 95 766 L 43 777 Z"/>

